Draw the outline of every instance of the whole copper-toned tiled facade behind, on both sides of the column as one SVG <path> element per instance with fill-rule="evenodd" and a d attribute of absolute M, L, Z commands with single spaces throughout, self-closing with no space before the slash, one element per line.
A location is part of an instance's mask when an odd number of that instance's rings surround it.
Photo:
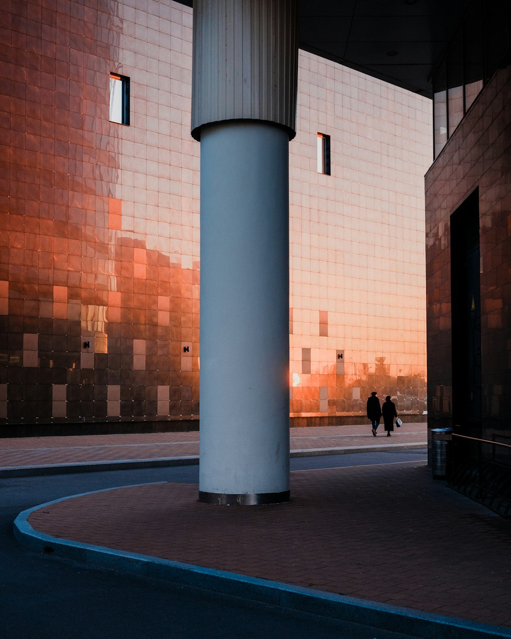
<path fill-rule="evenodd" d="M 4 428 L 197 420 L 191 10 L 59 0 L 1 13 Z M 112 73 L 130 81 L 129 125 L 110 121 Z M 372 389 L 422 415 L 431 103 L 303 52 L 299 74 L 291 415 L 360 421 Z"/>

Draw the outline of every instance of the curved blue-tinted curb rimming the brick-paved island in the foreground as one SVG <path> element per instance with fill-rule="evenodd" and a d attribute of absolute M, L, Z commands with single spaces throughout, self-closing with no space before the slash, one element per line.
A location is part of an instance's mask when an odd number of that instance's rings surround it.
<path fill-rule="evenodd" d="M 129 487 L 121 486 L 119 488 Z M 162 579 L 179 587 L 208 590 L 216 594 L 239 597 L 247 601 L 270 604 L 380 630 L 397 631 L 418 639 L 511 637 L 511 629 L 503 627 L 487 626 L 486 624 L 434 615 L 410 608 L 389 606 L 355 597 L 287 585 L 278 581 L 58 539 L 34 530 L 27 521 L 32 512 L 41 508 L 73 497 L 101 493 L 106 490 L 115 490 L 115 488 L 70 495 L 20 512 L 13 524 L 16 539 L 31 550 L 54 554 L 57 557 L 82 564 L 91 564 L 91 566 L 112 569 L 126 574 Z"/>

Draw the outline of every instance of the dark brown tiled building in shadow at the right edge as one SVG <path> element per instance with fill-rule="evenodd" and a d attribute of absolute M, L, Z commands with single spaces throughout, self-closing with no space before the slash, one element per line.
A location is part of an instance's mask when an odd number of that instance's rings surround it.
<path fill-rule="evenodd" d="M 429 427 L 454 428 L 455 481 L 481 482 L 488 500 L 507 485 L 492 503 L 501 508 L 511 493 L 510 38 L 508 3 L 471 4 L 434 79 L 425 176 Z"/>

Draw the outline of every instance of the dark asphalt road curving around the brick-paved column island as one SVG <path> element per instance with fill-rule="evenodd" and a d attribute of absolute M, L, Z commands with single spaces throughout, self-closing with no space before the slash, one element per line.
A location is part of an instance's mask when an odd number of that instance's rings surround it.
<path fill-rule="evenodd" d="M 425 459 L 425 450 L 295 458 L 291 468 L 313 470 L 416 459 Z M 82 566 L 27 550 L 13 536 L 17 514 L 34 505 L 87 491 L 157 481 L 196 483 L 198 466 L 0 480 L 1 639 L 407 637 Z"/>

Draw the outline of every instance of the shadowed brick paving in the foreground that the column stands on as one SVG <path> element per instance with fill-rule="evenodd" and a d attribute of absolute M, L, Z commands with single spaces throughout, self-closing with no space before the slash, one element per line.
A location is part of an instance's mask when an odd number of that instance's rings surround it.
<path fill-rule="evenodd" d="M 46 506 L 38 531 L 486 624 L 511 626 L 511 520 L 424 463 L 291 473 L 289 504 L 199 504 L 148 484 Z"/>

